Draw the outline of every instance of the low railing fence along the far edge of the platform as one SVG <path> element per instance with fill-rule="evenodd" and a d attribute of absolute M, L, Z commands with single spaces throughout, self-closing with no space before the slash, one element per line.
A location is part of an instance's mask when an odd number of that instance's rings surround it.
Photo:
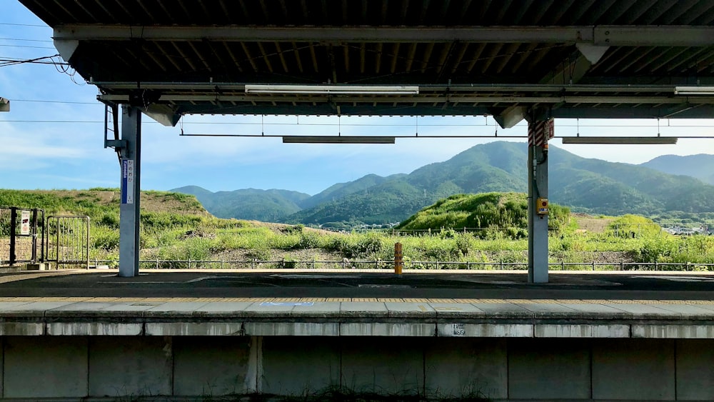
<path fill-rule="evenodd" d="M 95 259 L 94 266 L 116 266 L 116 260 Z M 714 263 L 642 263 L 642 262 L 551 262 L 550 271 L 714 271 Z M 141 269 L 393 269 L 389 260 L 140 260 Z M 526 262 L 405 261 L 405 269 L 442 269 L 473 271 L 527 270 Z"/>

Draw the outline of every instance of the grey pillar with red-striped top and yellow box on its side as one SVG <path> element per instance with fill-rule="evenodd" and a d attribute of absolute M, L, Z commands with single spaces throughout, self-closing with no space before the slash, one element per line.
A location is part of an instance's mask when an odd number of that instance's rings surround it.
<path fill-rule="evenodd" d="M 548 283 L 548 213 L 538 212 L 542 212 L 543 200 L 548 200 L 548 139 L 552 136 L 553 120 L 528 122 L 528 283 Z"/>

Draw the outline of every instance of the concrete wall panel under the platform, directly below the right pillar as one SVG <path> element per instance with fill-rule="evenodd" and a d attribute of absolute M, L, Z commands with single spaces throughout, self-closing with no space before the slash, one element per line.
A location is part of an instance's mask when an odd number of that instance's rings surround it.
<path fill-rule="evenodd" d="M 590 349 L 571 339 L 508 340 L 508 396 L 590 398 Z"/>

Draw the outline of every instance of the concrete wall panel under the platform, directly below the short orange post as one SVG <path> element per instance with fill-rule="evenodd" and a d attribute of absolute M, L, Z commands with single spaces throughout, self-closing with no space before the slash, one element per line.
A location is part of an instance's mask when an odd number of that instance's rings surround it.
<path fill-rule="evenodd" d="M 342 386 L 356 392 L 423 388 L 424 338 L 341 338 Z"/>

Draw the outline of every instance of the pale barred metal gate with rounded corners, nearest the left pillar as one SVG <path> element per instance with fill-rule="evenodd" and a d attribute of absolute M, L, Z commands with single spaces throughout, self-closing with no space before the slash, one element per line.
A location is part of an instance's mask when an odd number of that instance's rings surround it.
<path fill-rule="evenodd" d="M 48 216 L 47 262 L 89 268 L 89 216 Z"/>

